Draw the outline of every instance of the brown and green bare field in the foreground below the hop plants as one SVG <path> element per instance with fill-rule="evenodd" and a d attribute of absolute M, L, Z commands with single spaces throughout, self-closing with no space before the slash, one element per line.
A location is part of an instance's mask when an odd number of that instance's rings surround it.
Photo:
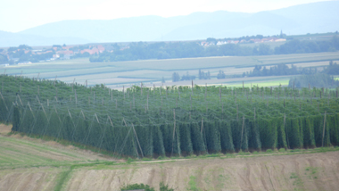
<path fill-rule="evenodd" d="M 134 183 L 159 187 L 161 181 L 176 190 L 339 187 L 339 151 L 107 163 L 114 160 L 55 142 L 5 136 L 10 129 L 0 125 L 0 190 L 120 190 Z"/>

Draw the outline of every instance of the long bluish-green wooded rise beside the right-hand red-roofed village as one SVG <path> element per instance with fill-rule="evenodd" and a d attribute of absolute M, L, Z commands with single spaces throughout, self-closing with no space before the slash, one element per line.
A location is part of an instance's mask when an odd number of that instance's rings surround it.
<path fill-rule="evenodd" d="M 131 43 L 128 48 L 120 50 L 117 47 L 112 53 L 103 52 L 90 57 L 90 62 L 116 62 L 135 61 L 146 59 L 170 59 L 170 58 L 193 58 L 206 56 L 246 56 L 246 55 L 269 55 L 269 54 L 302 54 L 320 53 L 339 50 L 339 37 L 334 36 L 330 40 L 310 41 L 291 40 L 282 46 L 271 49 L 270 46 L 259 44 L 258 46 L 240 46 L 226 44 L 221 46 L 203 47 L 196 42 L 174 43 Z"/>

